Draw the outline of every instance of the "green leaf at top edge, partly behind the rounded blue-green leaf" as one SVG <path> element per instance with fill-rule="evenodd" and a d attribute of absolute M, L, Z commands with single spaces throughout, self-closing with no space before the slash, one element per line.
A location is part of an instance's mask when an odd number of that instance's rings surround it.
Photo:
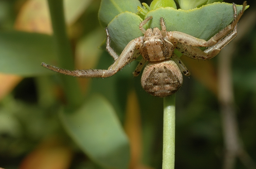
<path fill-rule="evenodd" d="M 136 13 L 138 6 L 141 6 L 139 0 L 101 0 L 98 14 L 100 24 L 106 27 L 115 16 L 125 11 Z"/>

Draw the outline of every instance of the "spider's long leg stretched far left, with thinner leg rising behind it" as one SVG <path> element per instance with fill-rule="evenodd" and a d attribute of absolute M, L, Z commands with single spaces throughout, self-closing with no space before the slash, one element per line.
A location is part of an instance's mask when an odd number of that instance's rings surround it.
<path fill-rule="evenodd" d="M 107 28 L 106 28 L 106 32 L 108 34 Z M 109 34 L 107 36 L 109 36 Z M 108 39 L 108 37 L 107 37 L 107 39 Z M 128 43 L 128 45 L 125 46 L 123 52 L 121 53 L 121 55 L 119 57 L 114 52 L 114 50 L 109 46 L 110 50 L 109 49 L 107 49 L 107 50 L 111 52 L 110 55 L 114 59 L 115 58 L 117 58 L 117 59 L 110 67 L 108 67 L 108 70 L 87 69 L 87 70 L 70 71 L 70 70 L 59 68 L 59 67 L 47 65 L 45 63 L 42 63 L 41 65 L 50 70 L 53 70 L 55 72 L 59 72 L 61 74 L 71 75 L 71 76 L 75 76 L 75 77 L 109 77 L 109 76 L 116 74 L 116 72 L 118 72 L 125 65 L 129 64 L 132 60 L 134 60 L 133 55 L 134 55 L 135 51 L 137 51 L 139 49 L 139 47 L 142 43 L 142 40 L 143 40 L 143 37 L 139 37 L 139 38 L 136 38 L 136 39 L 133 39 L 132 41 L 130 41 Z M 137 53 L 136 53 L 136 55 L 137 55 Z"/>

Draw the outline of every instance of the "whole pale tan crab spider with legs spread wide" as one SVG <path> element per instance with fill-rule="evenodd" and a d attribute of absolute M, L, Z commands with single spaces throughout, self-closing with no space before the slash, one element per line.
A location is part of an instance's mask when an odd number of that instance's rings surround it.
<path fill-rule="evenodd" d="M 151 16 L 140 23 L 139 29 L 144 34 L 144 37 L 138 37 L 130 41 L 120 56 L 110 47 L 110 35 L 108 28 L 106 28 L 106 49 L 115 60 L 108 70 L 87 69 L 70 71 L 45 63 L 42 63 L 42 65 L 53 71 L 76 77 L 109 77 L 116 74 L 116 72 L 141 54 L 143 59 L 138 64 L 133 75 L 138 76 L 143 66 L 148 62 L 141 76 L 141 85 L 144 90 L 158 97 L 172 95 L 182 85 L 183 77 L 181 71 L 186 76 L 190 75 L 187 67 L 173 53 L 174 49 L 177 48 L 183 55 L 194 59 L 205 60 L 213 58 L 224 46 L 236 37 L 237 22 L 243 15 L 245 6 L 246 1 L 243 4 L 242 11 L 236 15 L 236 5 L 233 4 L 234 21 L 208 41 L 195 38 L 183 32 L 167 32 L 163 18 L 160 18 L 161 31 L 157 27 L 145 30 L 143 25 L 152 19 Z M 198 47 L 208 48 L 202 51 Z"/>

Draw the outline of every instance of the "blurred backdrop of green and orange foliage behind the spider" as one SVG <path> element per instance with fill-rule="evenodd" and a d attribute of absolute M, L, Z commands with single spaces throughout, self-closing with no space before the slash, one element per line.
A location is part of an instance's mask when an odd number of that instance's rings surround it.
<path fill-rule="evenodd" d="M 247 3 L 238 36 L 219 55 L 206 61 L 181 58 L 191 75 L 176 93 L 177 169 L 256 168 L 256 2 Z M 99 8 L 100 0 L 64 1 L 76 69 L 106 69 L 113 63 L 99 47 L 105 39 Z M 94 136 L 102 124 L 129 145 L 118 150 L 125 155 L 116 160 L 126 164 L 119 168 L 161 168 L 163 98 L 147 94 L 140 76 L 132 77 L 138 62 L 113 77 L 70 77 L 75 82 L 66 85 L 62 75 L 40 66 L 58 63 L 52 27 L 46 0 L 0 0 L 0 167 L 115 168 L 101 162 L 111 153 L 103 159 L 100 147 L 90 142 L 95 137 L 104 143 L 105 136 Z M 95 116 L 102 109 L 109 113 Z M 84 116 L 83 110 L 92 115 Z M 111 123 L 91 124 L 89 117 Z"/>

